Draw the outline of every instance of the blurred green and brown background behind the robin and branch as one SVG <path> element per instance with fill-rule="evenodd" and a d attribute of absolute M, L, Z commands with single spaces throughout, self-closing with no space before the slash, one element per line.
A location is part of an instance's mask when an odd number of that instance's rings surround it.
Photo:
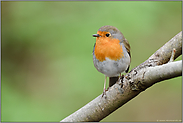
<path fill-rule="evenodd" d="M 4 122 L 58 122 L 100 95 L 104 75 L 93 65 L 92 34 L 101 26 L 115 26 L 128 39 L 130 69 L 182 27 L 181 1 L 11 1 L 1 7 Z M 102 121 L 180 121 L 181 80 L 155 84 Z"/>

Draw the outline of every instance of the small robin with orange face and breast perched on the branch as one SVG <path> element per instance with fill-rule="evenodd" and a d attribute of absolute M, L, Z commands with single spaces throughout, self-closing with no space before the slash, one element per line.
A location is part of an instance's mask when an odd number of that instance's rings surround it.
<path fill-rule="evenodd" d="M 93 63 L 95 68 L 105 75 L 103 97 L 106 95 L 107 77 L 109 77 L 109 87 L 111 87 L 118 77 L 121 77 L 122 72 L 128 72 L 131 62 L 130 45 L 114 26 L 102 26 L 93 37 L 96 37 Z"/>

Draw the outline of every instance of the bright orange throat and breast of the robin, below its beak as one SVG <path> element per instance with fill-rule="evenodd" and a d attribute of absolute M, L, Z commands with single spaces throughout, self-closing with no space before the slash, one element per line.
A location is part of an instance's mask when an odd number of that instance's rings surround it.
<path fill-rule="evenodd" d="M 124 54 L 119 42 L 118 39 L 97 37 L 94 51 L 96 58 L 101 62 L 104 61 L 106 57 L 115 61 L 121 59 Z"/>

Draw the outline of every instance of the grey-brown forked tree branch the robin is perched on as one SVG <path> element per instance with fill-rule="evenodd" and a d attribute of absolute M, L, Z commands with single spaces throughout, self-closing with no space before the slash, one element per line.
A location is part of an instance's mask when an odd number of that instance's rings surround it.
<path fill-rule="evenodd" d="M 182 60 L 167 63 L 182 54 L 182 31 L 157 50 L 149 59 L 132 69 L 102 94 L 61 122 L 100 121 L 153 84 L 182 75 Z"/>

